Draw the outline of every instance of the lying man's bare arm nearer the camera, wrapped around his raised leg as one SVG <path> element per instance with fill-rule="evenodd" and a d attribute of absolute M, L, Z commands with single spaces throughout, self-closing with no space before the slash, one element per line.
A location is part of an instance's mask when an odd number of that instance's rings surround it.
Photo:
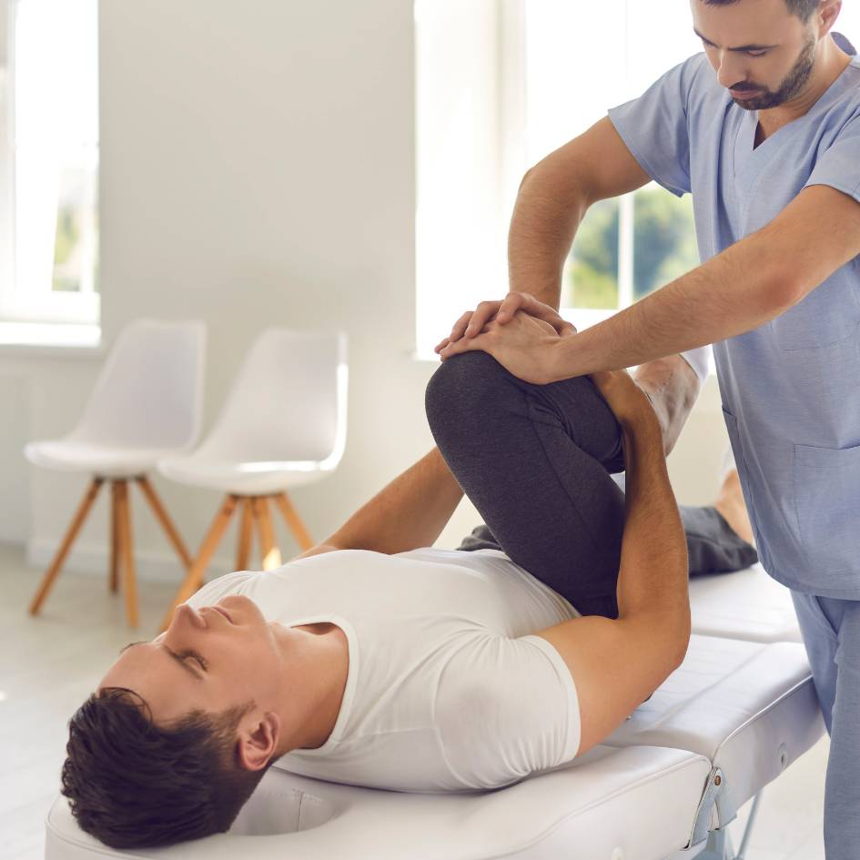
<path fill-rule="evenodd" d="M 618 386 L 607 386 L 606 377 Z M 537 634 L 562 655 L 576 684 L 580 753 L 612 734 L 663 683 L 683 660 L 690 638 L 686 541 L 659 421 L 624 371 L 592 379 L 623 430 L 627 491 L 619 617 L 575 618 Z"/>

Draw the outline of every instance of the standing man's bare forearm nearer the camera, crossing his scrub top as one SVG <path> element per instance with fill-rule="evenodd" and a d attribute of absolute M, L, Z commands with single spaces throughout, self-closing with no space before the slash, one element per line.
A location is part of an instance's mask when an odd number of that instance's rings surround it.
<path fill-rule="evenodd" d="M 777 261 L 755 236 L 580 334 L 562 339 L 551 378 L 628 368 L 733 338 L 764 325 L 794 303 Z"/>

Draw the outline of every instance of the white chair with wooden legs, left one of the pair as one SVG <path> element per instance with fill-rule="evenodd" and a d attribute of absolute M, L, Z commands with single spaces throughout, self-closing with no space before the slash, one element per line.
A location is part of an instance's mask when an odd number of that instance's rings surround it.
<path fill-rule="evenodd" d="M 98 491 L 111 483 L 110 588 L 123 568 L 126 615 L 137 626 L 137 582 L 132 551 L 128 481 L 137 481 L 185 567 L 191 558 L 147 472 L 167 454 L 197 441 L 203 405 L 206 329 L 202 322 L 138 319 L 123 329 L 96 380 L 75 430 L 62 439 L 30 442 L 25 456 L 46 469 L 93 475 L 66 537 L 56 551 L 30 613 L 42 607 Z"/>

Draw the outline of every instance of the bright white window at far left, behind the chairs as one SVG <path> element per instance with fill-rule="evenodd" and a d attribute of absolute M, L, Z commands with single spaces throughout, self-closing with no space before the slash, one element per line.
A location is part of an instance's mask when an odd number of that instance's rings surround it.
<path fill-rule="evenodd" d="M 6 4 L 11 266 L 0 288 L 0 320 L 97 332 L 97 3 Z"/>

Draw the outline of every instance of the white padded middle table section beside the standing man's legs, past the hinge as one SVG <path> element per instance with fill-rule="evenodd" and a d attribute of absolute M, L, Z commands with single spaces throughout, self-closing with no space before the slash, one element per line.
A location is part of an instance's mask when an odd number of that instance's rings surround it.
<path fill-rule="evenodd" d="M 803 645 L 694 634 L 681 667 L 604 743 L 702 754 L 739 808 L 824 730 Z"/>

